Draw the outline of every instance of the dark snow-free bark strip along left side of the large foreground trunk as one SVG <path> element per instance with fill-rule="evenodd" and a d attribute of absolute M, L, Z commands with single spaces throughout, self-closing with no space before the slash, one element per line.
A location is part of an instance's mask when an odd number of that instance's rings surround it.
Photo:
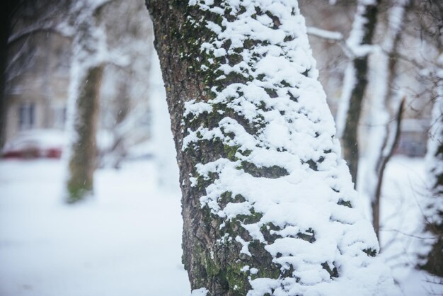
<path fill-rule="evenodd" d="M 205 194 L 205 187 L 192 188 L 189 175 L 200 161 L 214 161 L 226 156 L 221 142 L 202 144 L 199 151 L 185 155 L 181 151 L 183 143 L 183 127 L 181 125 L 184 113 L 184 102 L 189 98 L 207 98 L 207 81 L 196 69 L 200 68 L 200 62 L 196 60 L 198 45 L 194 44 L 196 38 L 199 42 L 205 42 L 209 33 L 192 30 L 186 17 L 197 16 L 200 11 L 190 8 L 183 1 L 152 1 L 148 4 L 149 11 L 154 22 L 156 36 L 154 46 L 159 54 L 162 65 L 163 80 L 165 81 L 169 113 L 171 115 L 171 129 L 176 143 L 178 166 L 180 169 L 180 184 L 182 188 L 182 215 L 183 215 L 183 264 L 190 275 L 192 288 L 209 286 L 214 295 L 226 295 L 229 290 L 226 275 L 219 273 L 226 271 L 226 263 L 236 261 L 237 258 L 229 258 L 229 252 L 217 250 L 214 237 L 219 223 L 212 224 L 209 211 L 200 210 L 198 196 Z M 198 37 L 197 37 L 198 36 Z M 192 53 L 189 58 L 180 58 L 183 52 Z M 193 53 L 195 52 L 195 53 Z M 200 56 L 200 58 L 202 58 Z M 205 120 L 205 118 L 202 118 Z M 211 118 L 207 118 L 211 120 Z M 198 122 L 196 125 L 200 124 Z M 208 125 L 217 124 L 214 120 Z M 206 212 L 206 213 L 205 213 Z M 212 250 L 217 257 L 210 258 L 208 249 Z M 239 250 L 237 250 L 239 251 Z M 238 252 L 234 252 L 238 254 Z M 228 258 L 226 258 L 226 256 Z M 232 256 L 232 255 L 231 255 Z M 224 279 L 222 279 L 224 278 Z M 210 283 L 209 285 L 207 285 Z"/>

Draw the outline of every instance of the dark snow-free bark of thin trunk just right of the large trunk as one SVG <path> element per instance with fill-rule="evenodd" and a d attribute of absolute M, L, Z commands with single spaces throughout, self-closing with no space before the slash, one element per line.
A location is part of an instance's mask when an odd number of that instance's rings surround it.
<path fill-rule="evenodd" d="M 360 42 L 361 45 L 371 45 L 374 36 L 377 6 L 379 1 L 373 5 L 364 5 L 364 12 L 362 17 L 367 19 L 367 22 L 362 25 L 363 36 Z M 352 88 L 349 108 L 346 114 L 345 128 L 341 137 L 343 147 L 343 158 L 347 161 L 352 181 L 357 181 L 359 147 L 358 147 L 358 126 L 360 114 L 362 113 L 362 103 L 364 92 L 367 86 L 367 72 L 368 72 L 368 56 L 355 57 L 352 61 L 352 67 L 355 69 L 355 83 Z"/>

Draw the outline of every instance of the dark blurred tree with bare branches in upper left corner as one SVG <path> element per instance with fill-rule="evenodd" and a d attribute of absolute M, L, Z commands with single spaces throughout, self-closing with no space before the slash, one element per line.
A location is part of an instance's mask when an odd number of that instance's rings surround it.
<path fill-rule="evenodd" d="M 0 148 L 6 141 L 7 108 L 14 79 L 25 74 L 35 64 L 33 35 L 56 33 L 66 37 L 57 28 L 66 16 L 68 1 L 6 0 L 1 2 L 0 50 Z M 49 75 L 46 75 L 49 77 Z M 46 79 L 46 76 L 42 79 Z"/>

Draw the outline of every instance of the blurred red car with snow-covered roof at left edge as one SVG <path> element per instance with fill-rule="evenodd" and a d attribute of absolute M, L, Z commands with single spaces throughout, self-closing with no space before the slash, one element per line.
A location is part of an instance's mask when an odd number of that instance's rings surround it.
<path fill-rule="evenodd" d="M 3 158 L 54 158 L 62 156 L 66 143 L 64 132 L 59 130 L 29 130 L 21 132 L 6 142 L 1 152 Z"/>

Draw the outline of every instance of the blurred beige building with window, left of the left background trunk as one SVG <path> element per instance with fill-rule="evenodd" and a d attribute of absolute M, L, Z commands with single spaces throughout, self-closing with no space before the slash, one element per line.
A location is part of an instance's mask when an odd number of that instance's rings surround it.
<path fill-rule="evenodd" d="M 10 45 L 6 87 L 6 140 L 33 129 L 63 130 L 69 89 L 71 40 L 40 31 Z"/>

